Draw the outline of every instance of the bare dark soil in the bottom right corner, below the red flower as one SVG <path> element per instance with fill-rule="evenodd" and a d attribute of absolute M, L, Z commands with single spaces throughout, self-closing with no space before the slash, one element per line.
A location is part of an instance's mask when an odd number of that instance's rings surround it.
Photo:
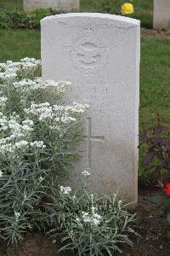
<path fill-rule="evenodd" d="M 151 193 L 157 191 L 139 191 L 139 204 L 136 209 L 137 218 L 133 225 L 140 237 L 133 240 L 133 248 L 124 250 L 122 255 L 127 256 L 169 256 L 170 240 L 167 230 L 170 228 L 167 220 L 162 216 L 161 207 L 150 203 Z"/>

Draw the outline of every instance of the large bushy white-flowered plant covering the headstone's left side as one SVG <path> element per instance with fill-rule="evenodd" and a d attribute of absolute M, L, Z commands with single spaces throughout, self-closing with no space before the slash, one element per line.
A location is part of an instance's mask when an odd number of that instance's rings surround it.
<path fill-rule="evenodd" d="M 44 81 L 40 74 L 34 58 L 0 64 L 0 237 L 6 242 L 42 227 L 43 201 L 77 159 L 87 110 L 76 102 L 60 106 L 70 82 Z"/>

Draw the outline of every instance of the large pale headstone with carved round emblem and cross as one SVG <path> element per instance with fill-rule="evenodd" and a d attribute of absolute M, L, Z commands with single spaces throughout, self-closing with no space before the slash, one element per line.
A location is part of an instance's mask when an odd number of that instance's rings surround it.
<path fill-rule="evenodd" d="M 42 77 L 69 80 L 65 102 L 89 105 L 75 183 L 89 170 L 99 193 L 138 195 L 139 20 L 67 14 L 42 20 Z"/>

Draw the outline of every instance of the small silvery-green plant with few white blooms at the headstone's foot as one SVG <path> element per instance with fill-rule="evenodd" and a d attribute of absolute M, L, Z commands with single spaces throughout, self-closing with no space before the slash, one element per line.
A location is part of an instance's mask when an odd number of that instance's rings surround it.
<path fill-rule="evenodd" d="M 127 212 L 116 194 L 91 194 L 87 189 L 89 175 L 82 172 L 82 189 L 71 191 L 60 186 L 60 196 L 47 205 L 49 234 L 55 241 L 61 232 L 64 246 L 60 250 L 70 249 L 79 256 L 121 253 L 121 244 L 132 246 L 129 235 L 137 235 L 131 227 L 135 214 Z"/>

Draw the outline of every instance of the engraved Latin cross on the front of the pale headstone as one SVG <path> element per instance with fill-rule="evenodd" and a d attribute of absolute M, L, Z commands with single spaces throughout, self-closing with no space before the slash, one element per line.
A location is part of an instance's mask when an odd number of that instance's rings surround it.
<path fill-rule="evenodd" d="M 92 122 L 91 118 L 87 118 L 87 136 L 82 137 L 83 141 L 87 141 L 87 167 L 91 169 L 92 167 L 92 142 L 104 142 L 104 136 L 102 137 L 93 137 L 92 136 Z"/>

